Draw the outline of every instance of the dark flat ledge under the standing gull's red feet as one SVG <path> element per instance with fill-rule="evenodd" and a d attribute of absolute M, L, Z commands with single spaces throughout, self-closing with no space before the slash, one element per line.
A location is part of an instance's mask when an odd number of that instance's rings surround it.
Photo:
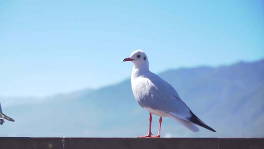
<path fill-rule="evenodd" d="M 0 149 L 264 149 L 264 138 L 0 137 Z"/>

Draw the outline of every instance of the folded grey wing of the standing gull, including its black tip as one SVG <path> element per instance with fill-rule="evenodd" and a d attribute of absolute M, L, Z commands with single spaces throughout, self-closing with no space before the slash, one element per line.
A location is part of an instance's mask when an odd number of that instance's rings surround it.
<path fill-rule="evenodd" d="M 189 107 L 180 99 L 176 90 L 168 82 L 161 78 L 149 78 L 149 81 L 151 82 L 148 84 L 150 85 L 152 93 L 151 96 L 148 97 L 151 99 L 147 100 L 149 102 L 147 104 L 150 106 L 150 108 L 164 111 L 172 117 L 198 124 L 202 127 L 216 132 L 213 128 L 202 122 L 189 109 Z M 187 126 L 186 124 L 184 125 Z M 188 128 L 193 131 L 197 131 L 198 129 L 194 125 L 191 125 Z"/>

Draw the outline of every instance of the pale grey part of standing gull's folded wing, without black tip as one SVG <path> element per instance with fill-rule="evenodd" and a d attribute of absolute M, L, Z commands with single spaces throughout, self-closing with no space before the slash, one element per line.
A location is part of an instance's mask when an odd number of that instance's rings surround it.
<path fill-rule="evenodd" d="M 192 116 L 189 107 L 180 99 L 176 90 L 159 77 L 148 78 L 148 94 L 140 104 L 166 112 L 179 119 L 189 121 Z"/>

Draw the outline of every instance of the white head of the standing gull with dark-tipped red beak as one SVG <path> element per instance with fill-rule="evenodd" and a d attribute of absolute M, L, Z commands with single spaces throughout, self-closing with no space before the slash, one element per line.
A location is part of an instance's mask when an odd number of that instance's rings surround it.
<path fill-rule="evenodd" d="M 125 58 L 123 62 L 132 61 L 134 66 L 140 66 L 144 64 L 149 64 L 148 57 L 143 50 L 135 50 L 131 53 L 130 57 Z"/>

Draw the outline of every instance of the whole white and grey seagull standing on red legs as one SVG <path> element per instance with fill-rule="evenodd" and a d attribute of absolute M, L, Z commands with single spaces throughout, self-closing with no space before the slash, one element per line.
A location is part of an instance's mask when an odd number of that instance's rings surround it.
<path fill-rule="evenodd" d="M 123 60 L 126 61 L 133 63 L 131 86 L 134 98 L 149 111 L 149 133 L 139 138 L 152 138 L 152 114 L 160 117 L 158 134 L 154 138 L 160 138 L 162 117 L 170 117 L 193 132 L 199 131 L 196 124 L 216 132 L 190 110 L 171 84 L 149 70 L 148 56 L 143 50 L 133 51 L 130 57 Z"/>

